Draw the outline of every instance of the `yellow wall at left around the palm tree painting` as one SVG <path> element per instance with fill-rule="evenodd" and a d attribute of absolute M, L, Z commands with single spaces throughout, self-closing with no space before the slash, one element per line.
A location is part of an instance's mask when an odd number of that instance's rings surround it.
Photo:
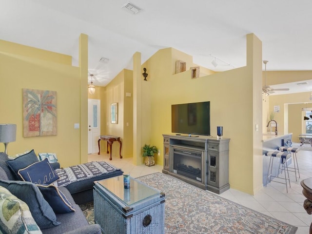
<path fill-rule="evenodd" d="M 56 57 L 55 53 L 0 40 L 0 123 L 17 124 L 16 141 L 8 145 L 9 155 L 31 149 L 37 154 L 53 152 L 61 166 L 66 167 L 78 164 L 86 157 L 80 153 L 80 129 L 74 129 L 74 123 L 80 123 L 80 110 L 83 109 L 80 102 L 83 78 L 80 78 L 79 67 L 64 62 L 68 61 L 68 56 L 58 54 Z M 57 136 L 23 137 L 23 88 L 57 92 Z M 3 144 L 0 144 L 0 151 L 3 150 Z"/>

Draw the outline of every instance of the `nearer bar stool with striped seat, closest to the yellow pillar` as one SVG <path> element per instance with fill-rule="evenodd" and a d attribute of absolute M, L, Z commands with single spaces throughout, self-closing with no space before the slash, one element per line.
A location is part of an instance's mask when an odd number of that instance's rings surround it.
<path fill-rule="evenodd" d="M 281 184 L 285 184 L 286 185 L 286 191 L 288 193 L 288 188 L 287 188 L 287 180 L 289 182 L 289 187 L 291 187 L 291 181 L 289 179 L 289 173 L 288 173 L 288 167 L 287 167 L 287 159 L 289 159 L 292 155 L 289 154 L 288 152 L 282 152 L 282 151 L 268 151 L 267 153 L 265 153 L 266 156 L 269 156 L 270 157 L 270 163 L 269 163 L 269 168 L 268 168 L 268 176 L 267 176 L 267 179 L 266 179 L 266 183 L 265 183 L 265 187 L 267 187 L 267 184 L 268 184 L 268 178 L 270 177 L 270 182 L 271 182 L 271 177 L 274 177 L 274 178 L 279 178 L 279 179 L 285 179 L 285 183 L 284 182 L 280 182 L 280 181 L 275 181 L 273 180 L 272 182 L 277 182 L 277 183 L 281 183 Z M 277 173 L 277 176 L 272 176 L 272 168 L 273 168 L 273 158 L 280 158 L 280 162 L 279 162 L 279 165 L 278 165 L 278 173 Z M 272 162 L 272 163 L 271 163 Z M 282 168 L 280 168 L 280 164 L 282 164 Z M 286 165 L 286 166 L 285 166 Z M 270 173 L 270 167 L 271 167 L 271 173 Z M 279 171 L 282 171 L 282 174 L 283 174 L 283 171 L 284 171 L 284 175 L 285 177 L 282 178 L 282 177 L 278 177 L 279 175 Z M 287 171 L 287 175 L 286 175 L 286 171 Z M 269 174 L 270 173 L 270 174 Z"/>

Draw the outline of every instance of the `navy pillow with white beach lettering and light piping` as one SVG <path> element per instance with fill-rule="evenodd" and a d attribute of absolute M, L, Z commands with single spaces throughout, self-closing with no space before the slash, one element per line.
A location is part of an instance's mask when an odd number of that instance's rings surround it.
<path fill-rule="evenodd" d="M 24 169 L 20 169 L 18 174 L 24 181 L 29 181 L 34 184 L 51 184 L 59 179 L 59 176 L 54 172 L 48 159 L 35 162 Z"/>

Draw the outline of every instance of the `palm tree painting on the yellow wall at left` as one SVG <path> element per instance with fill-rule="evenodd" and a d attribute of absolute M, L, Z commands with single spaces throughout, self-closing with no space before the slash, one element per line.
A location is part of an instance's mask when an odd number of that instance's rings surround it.
<path fill-rule="evenodd" d="M 56 92 L 23 89 L 23 136 L 57 135 Z"/>

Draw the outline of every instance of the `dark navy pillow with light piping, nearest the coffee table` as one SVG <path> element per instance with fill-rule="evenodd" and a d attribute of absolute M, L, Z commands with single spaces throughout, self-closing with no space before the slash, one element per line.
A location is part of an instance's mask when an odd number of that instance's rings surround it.
<path fill-rule="evenodd" d="M 37 185 L 44 199 L 52 207 L 56 214 L 64 214 L 75 211 L 66 196 L 53 184 Z"/>

